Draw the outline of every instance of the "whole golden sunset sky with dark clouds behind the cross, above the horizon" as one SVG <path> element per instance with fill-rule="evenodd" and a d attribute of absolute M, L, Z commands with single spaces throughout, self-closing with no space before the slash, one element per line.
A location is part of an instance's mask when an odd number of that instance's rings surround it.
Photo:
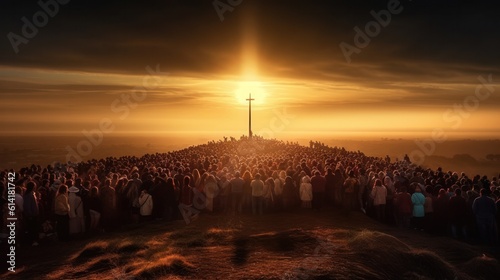
<path fill-rule="evenodd" d="M 493 1 L 60 2 L 0 4 L 1 133 L 500 137 Z"/>

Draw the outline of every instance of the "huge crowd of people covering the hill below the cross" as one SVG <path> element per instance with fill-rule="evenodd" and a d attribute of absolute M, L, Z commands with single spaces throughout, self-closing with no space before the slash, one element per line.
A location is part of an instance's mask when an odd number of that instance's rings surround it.
<path fill-rule="evenodd" d="M 333 207 L 484 244 L 496 245 L 499 237 L 498 177 L 425 169 L 408 157 L 391 162 L 320 142 L 231 137 L 142 157 L 4 170 L 4 235 L 9 172 L 16 174 L 17 236 L 30 245 L 50 235 L 66 241 L 129 223 L 182 219 L 189 208 L 222 215 L 311 208 L 314 215 Z"/>

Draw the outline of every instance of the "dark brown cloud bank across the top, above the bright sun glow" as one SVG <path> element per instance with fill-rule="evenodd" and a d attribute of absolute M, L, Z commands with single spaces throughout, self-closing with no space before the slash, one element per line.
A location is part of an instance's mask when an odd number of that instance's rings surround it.
<path fill-rule="evenodd" d="M 0 64 L 142 73 L 145 65 L 160 63 L 172 72 L 237 71 L 241 25 L 251 14 L 257 23 L 260 57 L 270 65 L 263 72 L 273 71 L 271 66 L 288 67 L 309 77 L 317 75 L 317 69 L 310 69 L 316 62 L 345 64 L 339 44 L 353 44 L 353 28 L 364 28 L 373 20 L 370 11 L 384 9 L 388 3 L 242 1 L 220 22 L 212 1 L 103 2 L 73 0 L 61 6 L 47 26 L 27 45 L 19 46 L 16 55 L 7 33 L 21 34 L 20 18 L 31 18 L 40 8 L 34 1 L 4 1 Z M 410 71 L 427 78 L 426 70 L 409 69 L 415 62 L 460 65 L 465 72 L 477 67 L 498 71 L 498 10 L 486 1 L 435 2 L 401 1 L 402 13 L 393 15 L 390 24 L 352 56 L 351 64 L 328 73 L 349 76 L 366 65 L 389 64 L 385 69 L 393 74 Z"/>

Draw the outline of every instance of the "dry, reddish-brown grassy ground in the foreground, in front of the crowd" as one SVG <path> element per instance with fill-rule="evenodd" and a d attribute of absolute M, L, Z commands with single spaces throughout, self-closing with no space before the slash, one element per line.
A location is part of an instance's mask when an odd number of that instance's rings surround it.
<path fill-rule="evenodd" d="M 484 248 L 386 228 L 357 213 L 207 215 L 188 226 L 152 222 L 58 245 L 23 251 L 22 271 L 0 278 L 500 278 L 498 261 L 480 257 Z"/>

